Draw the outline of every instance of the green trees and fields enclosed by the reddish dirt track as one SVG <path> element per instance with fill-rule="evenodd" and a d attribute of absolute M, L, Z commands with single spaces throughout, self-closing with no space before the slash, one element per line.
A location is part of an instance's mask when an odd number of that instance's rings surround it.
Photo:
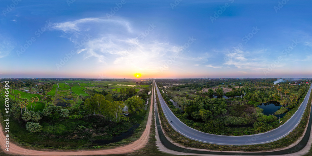
<path fill-rule="evenodd" d="M 17 83 L 11 82 L 9 85 Z M 89 94 L 80 85 L 99 84 L 71 82 L 30 81 L 28 85 L 44 86 L 39 93 L 18 87 L 11 93 L 10 89 L 10 136 L 14 142 L 35 149 L 97 149 L 129 144 L 140 137 L 148 116 L 149 88 L 114 92 L 102 86 L 101 91 Z M 2 95 L 0 100 L 3 102 Z M 126 136 L 118 139 L 120 134 Z"/>

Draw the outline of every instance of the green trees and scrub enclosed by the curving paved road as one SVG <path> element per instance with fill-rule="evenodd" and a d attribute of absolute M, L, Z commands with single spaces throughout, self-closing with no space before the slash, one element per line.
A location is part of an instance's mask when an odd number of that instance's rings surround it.
<path fill-rule="evenodd" d="M 305 81 L 299 80 L 298 85 L 288 82 L 274 85 L 275 80 L 245 80 L 244 84 L 234 81 L 227 86 L 228 80 L 218 80 L 218 84 L 223 86 L 212 86 L 216 82 L 211 80 L 168 87 L 159 84 L 166 91 L 161 93 L 163 99 L 186 125 L 205 133 L 238 136 L 266 132 L 285 123 L 298 109 L 310 87 Z M 239 86 L 232 87 L 238 83 Z M 209 89 L 205 89 L 207 87 Z M 223 88 L 227 88 L 228 92 L 224 93 Z M 226 98 L 223 97 L 225 95 Z M 173 106 L 170 99 L 177 100 L 181 109 Z M 270 101 L 279 103 L 280 109 L 265 115 L 258 105 Z M 283 122 L 279 123 L 277 116 L 281 114 L 283 117 L 280 120 Z"/>

